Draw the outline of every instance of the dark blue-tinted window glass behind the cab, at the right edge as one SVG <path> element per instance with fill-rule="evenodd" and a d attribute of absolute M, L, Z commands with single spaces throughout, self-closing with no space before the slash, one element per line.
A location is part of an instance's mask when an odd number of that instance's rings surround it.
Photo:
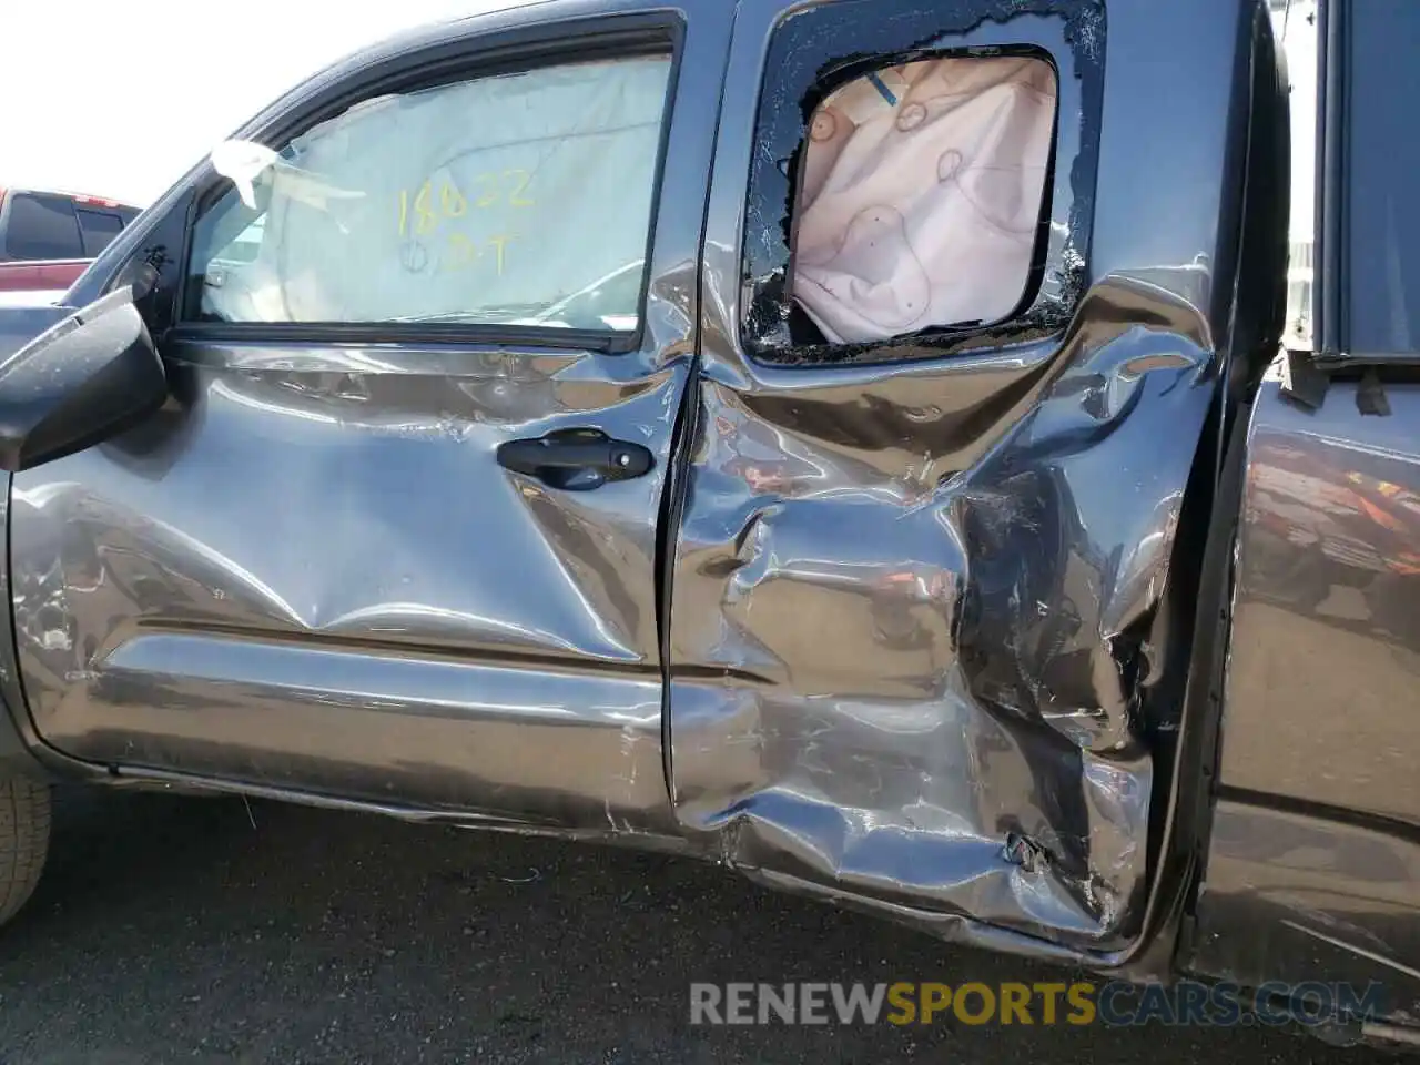
<path fill-rule="evenodd" d="M 1346 98 L 1350 354 L 1420 351 L 1420 139 L 1410 131 L 1420 98 L 1420 4 L 1349 4 Z"/>

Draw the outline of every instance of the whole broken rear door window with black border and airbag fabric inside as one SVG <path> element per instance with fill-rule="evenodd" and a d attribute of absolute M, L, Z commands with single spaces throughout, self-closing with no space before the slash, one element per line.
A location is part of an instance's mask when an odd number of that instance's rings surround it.
<path fill-rule="evenodd" d="M 740 241 L 757 362 L 943 358 L 1064 329 L 1089 274 L 1102 10 L 794 9 L 763 62 Z"/>

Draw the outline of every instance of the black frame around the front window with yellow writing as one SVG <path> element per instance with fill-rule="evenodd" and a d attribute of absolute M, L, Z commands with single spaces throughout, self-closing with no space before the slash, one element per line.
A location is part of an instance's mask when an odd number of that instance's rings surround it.
<path fill-rule="evenodd" d="M 540 68 L 594 60 L 666 55 L 666 98 L 652 182 L 650 217 L 643 250 L 645 270 L 636 308 L 636 328 L 626 332 L 582 331 L 559 327 L 481 322 L 210 322 L 193 315 L 197 295 L 189 267 L 193 237 L 202 219 L 230 189 L 229 179 L 206 168 L 189 197 L 183 220 L 182 253 L 169 278 L 170 322 L 165 332 L 185 341 L 250 341 L 273 344 L 515 344 L 574 348 L 608 355 L 638 351 L 646 337 L 646 311 L 653 271 L 656 229 L 660 214 L 666 155 L 684 55 L 686 23 L 679 11 L 652 10 L 575 17 L 494 30 L 385 58 L 322 87 L 298 109 L 263 126 L 250 139 L 281 151 L 294 138 L 339 116 L 375 97 L 419 92 L 464 81 L 523 74 Z"/>

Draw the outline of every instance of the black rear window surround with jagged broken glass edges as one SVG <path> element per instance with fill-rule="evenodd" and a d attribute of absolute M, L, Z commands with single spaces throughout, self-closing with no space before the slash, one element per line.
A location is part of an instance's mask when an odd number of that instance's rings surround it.
<path fill-rule="evenodd" d="M 1061 334 L 1069 324 L 1088 287 L 1103 101 L 1103 7 L 1079 0 L 1035 0 L 1021 4 L 1021 13 L 1008 21 L 981 20 L 980 14 L 978 6 L 943 11 L 930 0 L 913 0 L 900 4 L 893 20 L 882 20 L 873 17 L 870 0 L 819 0 L 795 7 L 775 23 L 761 65 L 754 115 L 757 149 L 746 178 L 740 234 L 743 298 L 737 334 L 738 348 L 753 364 L 774 369 L 903 365 L 1041 339 Z M 805 55 L 798 41 L 815 37 L 825 44 Z M 843 55 L 845 40 L 873 45 Z M 886 47 L 879 48 L 879 40 Z M 868 70 L 922 58 L 998 55 L 1044 60 L 1056 84 L 1037 246 L 1012 314 L 998 322 L 930 328 L 865 344 L 794 342 L 787 327 L 792 308 L 788 283 L 808 116 L 828 92 Z M 797 77 L 787 77 L 790 70 Z M 812 72 L 807 87 L 801 84 L 805 71 Z M 1078 121 L 1068 121 L 1071 115 Z M 791 126 L 797 131 L 794 145 Z M 781 169 L 785 160 L 787 175 Z M 774 204 L 787 207 L 775 212 Z M 780 288 L 777 298 L 774 288 Z"/>

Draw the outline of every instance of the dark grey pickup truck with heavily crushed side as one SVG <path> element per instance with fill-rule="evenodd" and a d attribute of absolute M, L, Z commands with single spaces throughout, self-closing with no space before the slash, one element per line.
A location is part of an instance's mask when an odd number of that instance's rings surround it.
<path fill-rule="evenodd" d="M 1261 0 L 551 0 L 315 75 L 0 318 L 0 910 L 48 781 L 239 792 L 1416 1042 L 1417 36 L 1321 7 L 1309 344 Z"/>

